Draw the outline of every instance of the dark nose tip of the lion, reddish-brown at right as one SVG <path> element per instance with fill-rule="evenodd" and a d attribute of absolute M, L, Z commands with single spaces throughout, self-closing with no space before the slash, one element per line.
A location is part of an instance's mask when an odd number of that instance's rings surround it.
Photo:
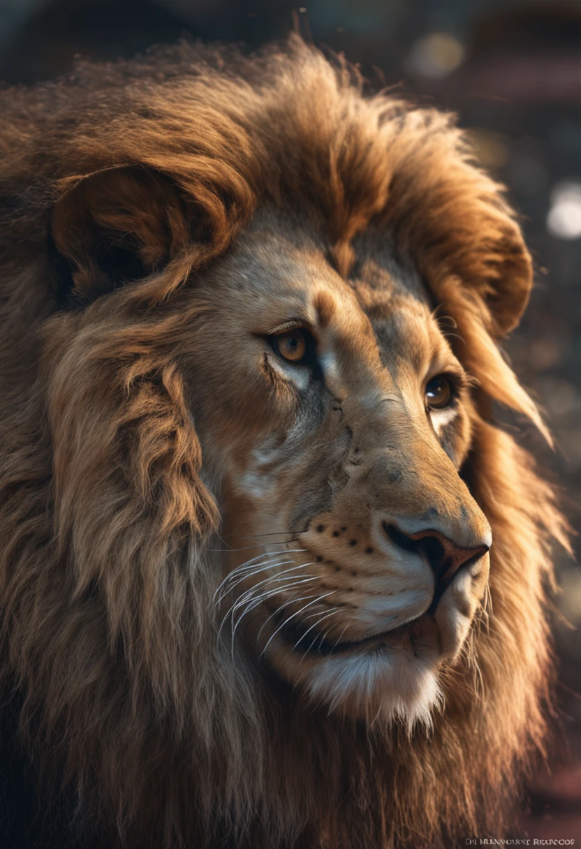
<path fill-rule="evenodd" d="M 490 548 L 486 543 L 481 543 L 474 548 L 462 548 L 453 540 L 444 537 L 440 531 L 434 531 L 431 528 L 415 533 L 403 533 L 397 526 L 384 522 L 383 530 L 392 543 L 396 543 L 399 548 L 424 554 L 436 576 L 438 599 L 462 566 L 481 558 Z"/>

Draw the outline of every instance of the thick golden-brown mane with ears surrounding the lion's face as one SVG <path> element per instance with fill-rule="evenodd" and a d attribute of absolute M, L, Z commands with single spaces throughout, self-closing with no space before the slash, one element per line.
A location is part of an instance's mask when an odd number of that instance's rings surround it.
<path fill-rule="evenodd" d="M 127 846 L 505 834 L 550 725 L 565 531 L 494 423 L 499 402 L 544 430 L 497 346 L 532 283 L 501 187 L 452 117 L 365 95 L 295 37 L 249 58 L 183 42 L 0 98 L 0 674 L 42 791 Z M 173 354 L 179 293 L 267 202 L 307 211 L 340 273 L 383 228 L 457 325 L 474 381 L 462 476 L 494 546 L 432 728 L 305 708 L 217 645 L 220 493 Z"/>

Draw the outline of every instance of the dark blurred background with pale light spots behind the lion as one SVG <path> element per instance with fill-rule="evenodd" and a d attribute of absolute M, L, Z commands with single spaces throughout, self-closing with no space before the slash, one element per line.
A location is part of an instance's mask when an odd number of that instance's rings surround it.
<path fill-rule="evenodd" d="M 398 84 L 457 112 L 508 187 L 536 288 L 505 348 L 546 412 L 556 453 L 531 430 L 519 438 L 581 529 L 581 0 L 0 0 L 0 80 L 47 80 L 79 58 L 129 57 L 184 33 L 253 48 L 293 28 L 346 53 L 373 86 Z M 534 780 L 519 836 L 581 841 L 581 569 L 563 552 L 556 559 L 565 734 L 550 773 Z"/>

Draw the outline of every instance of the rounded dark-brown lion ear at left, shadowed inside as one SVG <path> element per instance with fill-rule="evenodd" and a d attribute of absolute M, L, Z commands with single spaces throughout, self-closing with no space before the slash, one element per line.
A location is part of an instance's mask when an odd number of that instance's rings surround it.
<path fill-rule="evenodd" d="M 58 301 L 93 301 L 163 267 L 191 239 L 189 206 L 169 177 L 143 167 L 77 180 L 51 219 Z"/>

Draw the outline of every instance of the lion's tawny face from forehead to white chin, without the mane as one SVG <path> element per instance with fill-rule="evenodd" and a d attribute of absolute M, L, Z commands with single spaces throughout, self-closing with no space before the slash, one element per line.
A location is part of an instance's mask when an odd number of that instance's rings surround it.
<path fill-rule="evenodd" d="M 197 293 L 192 404 L 231 548 L 222 632 L 316 700 L 413 721 L 471 626 L 491 531 L 459 475 L 464 369 L 381 235 L 355 254 L 346 281 L 306 227 L 257 216 Z"/>

